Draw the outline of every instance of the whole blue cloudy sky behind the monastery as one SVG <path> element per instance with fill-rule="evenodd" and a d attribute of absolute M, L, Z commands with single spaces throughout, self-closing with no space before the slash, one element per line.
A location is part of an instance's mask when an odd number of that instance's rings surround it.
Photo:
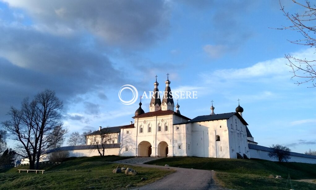
<path fill-rule="evenodd" d="M 157 75 L 164 90 L 169 73 L 173 91 L 197 92 L 179 99 L 182 115 L 210 114 L 212 100 L 215 113 L 234 112 L 240 99 L 258 145 L 316 150 L 316 88 L 295 84 L 284 58 L 314 60 L 315 48 L 274 29 L 291 24 L 280 8 L 275 0 L 0 0 L 0 121 L 51 89 L 70 133 L 128 125 L 138 101 L 122 104 L 120 88 L 152 91 Z"/>

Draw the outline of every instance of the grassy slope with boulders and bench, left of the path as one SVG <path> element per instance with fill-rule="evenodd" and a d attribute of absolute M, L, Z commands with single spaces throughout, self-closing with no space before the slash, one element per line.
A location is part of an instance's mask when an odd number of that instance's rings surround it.
<path fill-rule="evenodd" d="M 161 179 L 173 171 L 164 169 L 149 169 L 133 167 L 126 164 L 112 163 L 125 159 L 119 156 L 100 156 L 69 158 L 58 165 L 44 165 L 44 174 L 18 173 L 17 169 L 27 169 L 26 166 L 13 168 L 6 173 L 0 173 L 0 189 L 124 189 L 126 185 L 142 186 Z M 132 167 L 138 172 L 135 176 L 113 174 L 116 167 Z M 141 178 L 147 178 L 141 181 Z"/>

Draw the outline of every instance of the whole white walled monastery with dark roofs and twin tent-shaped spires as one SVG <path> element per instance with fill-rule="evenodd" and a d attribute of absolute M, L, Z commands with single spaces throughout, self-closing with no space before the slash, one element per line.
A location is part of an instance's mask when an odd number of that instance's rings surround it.
<path fill-rule="evenodd" d="M 242 117 L 244 109 L 238 104 L 235 112 L 214 113 L 213 104 L 210 114 L 190 119 L 180 113 L 180 106 L 174 105 L 170 81 L 165 82 L 164 97 L 159 95 L 157 77 L 154 95 L 145 113 L 139 103 L 130 125 L 99 127 L 98 131 L 88 134 L 86 145 L 60 147 L 53 151 L 69 151 L 70 156 L 97 156 L 93 150 L 96 139 L 106 141 L 104 155 L 119 156 L 199 156 L 214 158 L 270 158 L 271 148 L 259 146 L 252 137 L 247 122 Z M 174 110 L 174 107 L 176 110 Z M 106 138 L 100 139 L 100 134 Z M 316 163 L 316 156 L 290 152 L 290 162 Z"/>

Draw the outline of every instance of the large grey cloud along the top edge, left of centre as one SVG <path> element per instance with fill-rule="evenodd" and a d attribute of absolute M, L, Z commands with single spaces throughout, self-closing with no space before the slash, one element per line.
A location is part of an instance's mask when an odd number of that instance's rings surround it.
<path fill-rule="evenodd" d="M 169 26 L 169 6 L 162 0 L 7 2 L 25 9 L 41 30 L 58 35 L 88 31 L 124 48 L 150 45 L 163 38 Z"/>

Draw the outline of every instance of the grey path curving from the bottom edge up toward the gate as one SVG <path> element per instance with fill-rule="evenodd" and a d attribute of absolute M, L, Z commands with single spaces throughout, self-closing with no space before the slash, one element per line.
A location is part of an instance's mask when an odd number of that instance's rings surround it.
<path fill-rule="evenodd" d="M 119 162 L 122 163 L 122 162 Z M 123 162 L 126 163 L 126 162 Z M 220 189 L 226 190 L 225 188 L 218 187 L 214 181 L 214 171 L 201 170 L 201 169 L 186 169 L 186 168 L 175 168 L 165 167 L 148 164 L 128 163 L 132 166 L 146 167 L 146 168 L 163 168 L 173 169 L 176 172 L 167 175 L 166 177 L 147 184 L 142 187 L 134 189 Z"/>

